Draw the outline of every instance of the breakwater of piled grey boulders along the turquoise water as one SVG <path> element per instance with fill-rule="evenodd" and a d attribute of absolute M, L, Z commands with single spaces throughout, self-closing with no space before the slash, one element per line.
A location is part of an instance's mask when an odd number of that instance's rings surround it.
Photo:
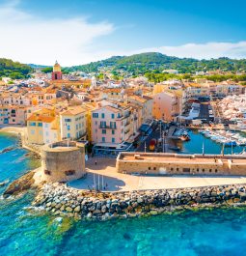
<path fill-rule="evenodd" d="M 54 215 L 108 219 L 157 214 L 196 207 L 244 205 L 246 185 L 198 188 L 90 192 L 67 185 L 46 184 L 39 190 L 34 206 Z"/>

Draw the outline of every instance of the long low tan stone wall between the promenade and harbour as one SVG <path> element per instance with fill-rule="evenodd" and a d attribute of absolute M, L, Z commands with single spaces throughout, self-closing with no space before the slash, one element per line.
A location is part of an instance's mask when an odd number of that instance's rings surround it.
<path fill-rule="evenodd" d="M 121 153 L 116 167 L 127 174 L 246 175 L 246 156 Z"/>

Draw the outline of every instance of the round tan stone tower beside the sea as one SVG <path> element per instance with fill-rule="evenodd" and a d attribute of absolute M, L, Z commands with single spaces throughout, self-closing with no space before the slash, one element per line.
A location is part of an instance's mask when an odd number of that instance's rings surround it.
<path fill-rule="evenodd" d="M 63 183 L 86 174 L 84 144 L 60 141 L 41 148 L 41 180 Z"/>

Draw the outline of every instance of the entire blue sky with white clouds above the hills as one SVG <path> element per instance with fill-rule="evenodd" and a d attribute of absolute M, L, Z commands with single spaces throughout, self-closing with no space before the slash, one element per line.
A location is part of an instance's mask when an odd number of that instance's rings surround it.
<path fill-rule="evenodd" d="M 0 57 L 86 64 L 161 52 L 246 58 L 245 0 L 0 0 Z"/>

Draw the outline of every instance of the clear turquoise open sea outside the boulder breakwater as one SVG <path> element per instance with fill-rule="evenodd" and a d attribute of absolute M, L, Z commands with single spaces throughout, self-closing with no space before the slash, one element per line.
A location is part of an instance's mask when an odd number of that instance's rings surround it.
<path fill-rule="evenodd" d="M 0 150 L 16 145 L 0 133 Z M 23 149 L 0 155 L 0 182 L 35 166 Z M 2 188 L 3 189 L 3 188 Z M 74 221 L 29 209 L 32 192 L 0 199 L 0 255 L 236 256 L 246 251 L 246 211 L 203 210 L 106 222 Z"/>

